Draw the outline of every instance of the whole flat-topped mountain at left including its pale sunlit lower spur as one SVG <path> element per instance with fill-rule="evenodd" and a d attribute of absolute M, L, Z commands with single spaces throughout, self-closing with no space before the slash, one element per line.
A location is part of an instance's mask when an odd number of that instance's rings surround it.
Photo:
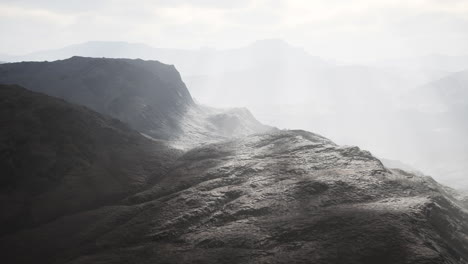
<path fill-rule="evenodd" d="M 226 112 L 195 104 L 175 67 L 158 61 L 72 57 L 7 63 L 0 65 L 0 83 L 84 105 L 150 137 L 179 143 L 270 129 L 245 110 Z M 230 130 L 220 127 L 223 123 Z"/>

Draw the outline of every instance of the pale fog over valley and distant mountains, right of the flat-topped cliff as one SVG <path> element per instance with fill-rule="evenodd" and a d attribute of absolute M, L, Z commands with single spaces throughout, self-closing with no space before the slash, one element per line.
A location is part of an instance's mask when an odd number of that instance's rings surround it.
<path fill-rule="evenodd" d="M 230 52 L 233 59 L 224 52 L 212 71 L 184 76 L 199 102 L 245 106 L 264 123 L 314 131 L 466 187 L 466 57 L 336 64 L 279 40 L 246 47 L 255 55 L 244 63 L 240 50 Z"/>

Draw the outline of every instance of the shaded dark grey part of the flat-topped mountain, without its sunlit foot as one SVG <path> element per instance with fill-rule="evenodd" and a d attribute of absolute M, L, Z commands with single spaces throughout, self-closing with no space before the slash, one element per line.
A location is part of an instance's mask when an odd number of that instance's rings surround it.
<path fill-rule="evenodd" d="M 177 131 L 177 120 L 193 104 L 174 66 L 157 61 L 73 57 L 9 63 L 0 66 L 0 83 L 60 97 L 166 138 L 164 132 Z"/>

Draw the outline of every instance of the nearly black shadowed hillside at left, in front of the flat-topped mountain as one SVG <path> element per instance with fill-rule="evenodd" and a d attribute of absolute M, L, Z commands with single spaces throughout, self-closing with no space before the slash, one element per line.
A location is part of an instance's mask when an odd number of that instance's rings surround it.
<path fill-rule="evenodd" d="M 157 181 L 178 151 L 82 106 L 0 85 L 0 233 L 96 208 Z"/>

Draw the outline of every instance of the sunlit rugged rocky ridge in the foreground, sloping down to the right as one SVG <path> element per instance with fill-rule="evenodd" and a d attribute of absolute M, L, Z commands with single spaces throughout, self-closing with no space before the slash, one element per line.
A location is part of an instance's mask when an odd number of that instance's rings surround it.
<path fill-rule="evenodd" d="M 462 202 L 304 131 L 193 149 L 119 203 L 0 239 L 10 263 L 466 263 Z M 19 254 L 28 252 L 28 254 Z"/>

